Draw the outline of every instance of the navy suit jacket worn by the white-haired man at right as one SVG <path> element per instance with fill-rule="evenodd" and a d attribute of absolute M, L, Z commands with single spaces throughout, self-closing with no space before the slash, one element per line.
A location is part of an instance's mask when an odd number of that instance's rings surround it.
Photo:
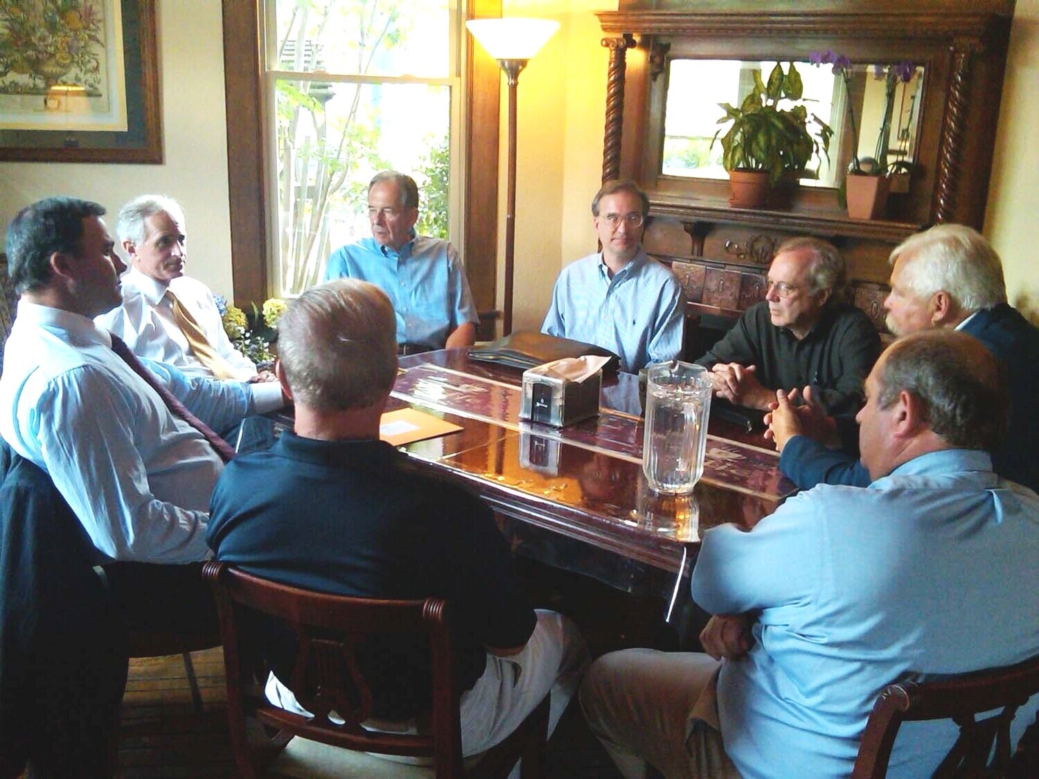
<path fill-rule="evenodd" d="M 992 453 L 1000 476 L 1039 492 L 1039 328 L 1008 303 L 982 308 L 961 328 L 995 355 L 1007 371 L 1010 390 L 1010 430 Z M 829 450 L 803 435 L 790 439 L 779 456 L 779 469 L 801 489 L 817 484 L 864 487 L 870 475 L 862 463 L 845 452 Z"/>

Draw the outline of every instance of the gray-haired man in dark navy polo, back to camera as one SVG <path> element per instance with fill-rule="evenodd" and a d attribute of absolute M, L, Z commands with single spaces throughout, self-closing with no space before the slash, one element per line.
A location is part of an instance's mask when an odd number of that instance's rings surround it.
<path fill-rule="evenodd" d="M 221 475 L 207 534 L 217 559 L 323 592 L 447 598 L 464 691 L 462 753 L 502 741 L 550 690 L 551 732 L 583 668 L 583 642 L 561 615 L 526 602 L 484 504 L 379 440 L 397 375 L 390 299 L 366 281 L 337 279 L 293 301 L 278 331 L 275 371 L 295 402 L 295 432 Z M 268 698 L 305 715 L 278 680 L 290 678 L 292 652 L 268 656 Z M 380 722 L 406 728 L 427 710 L 427 660 L 411 646 L 372 654 Z"/>

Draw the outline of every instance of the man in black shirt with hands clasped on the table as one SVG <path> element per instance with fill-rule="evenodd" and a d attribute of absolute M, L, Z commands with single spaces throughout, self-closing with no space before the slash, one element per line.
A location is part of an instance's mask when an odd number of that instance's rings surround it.
<path fill-rule="evenodd" d="M 829 413 L 854 412 L 880 353 L 870 318 L 842 301 L 844 259 L 817 238 L 779 245 L 765 300 L 696 360 L 711 369 L 715 395 L 767 410 L 776 390 L 811 387 Z"/>

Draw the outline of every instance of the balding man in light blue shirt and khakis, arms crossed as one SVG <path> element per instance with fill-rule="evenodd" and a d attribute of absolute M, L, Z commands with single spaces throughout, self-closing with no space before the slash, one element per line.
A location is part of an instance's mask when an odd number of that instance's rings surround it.
<path fill-rule="evenodd" d="M 703 534 L 692 594 L 716 615 L 707 654 L 633 649 L 589 669 L 582 706 L 625 776 L 646 762 L 669 777 L 848 776 L 887 683 L 1039 651 L 1039 498 L 992 472 L 1007 423 L 995 358 L 964 333 L 917 332 L 865 395 L 869 487 L 820 485 L 749 532 Z M 1037 705 L 1017 710 L 1014 742 Z M 887 776 L 930 777 L 958 731 L 906 723 Z"/>

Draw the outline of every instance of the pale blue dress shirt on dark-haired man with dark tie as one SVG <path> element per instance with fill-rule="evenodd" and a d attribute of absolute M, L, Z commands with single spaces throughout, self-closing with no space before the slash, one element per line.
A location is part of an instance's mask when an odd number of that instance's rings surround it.
<path fill-rule="evenodd" d="M 270 410 L 255 404 L 255 385 L 188 378 L 142 361 L 215 429 Z M 206 512 L 223 463 L 111 350 L 107 331 L 78 314 L 21 300 L 4 354 L 0 409 L 0 434 L 50 474 L 98 562 L 205 557 Z"/>

